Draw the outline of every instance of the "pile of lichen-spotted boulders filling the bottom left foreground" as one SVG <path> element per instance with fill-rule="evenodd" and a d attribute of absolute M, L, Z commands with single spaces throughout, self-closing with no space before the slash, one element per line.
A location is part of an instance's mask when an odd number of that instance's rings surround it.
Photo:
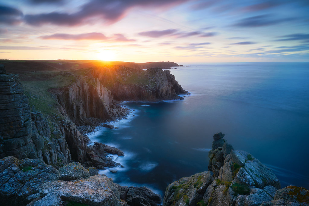
<path fill-rule="evenodd" d="M 94 167 L 74 162 L 58 171 L 39 159 L 0 159 L 3 205 L 157 206 L 161 197 L 146 187 L 127 187 L 99 175 Z"/>

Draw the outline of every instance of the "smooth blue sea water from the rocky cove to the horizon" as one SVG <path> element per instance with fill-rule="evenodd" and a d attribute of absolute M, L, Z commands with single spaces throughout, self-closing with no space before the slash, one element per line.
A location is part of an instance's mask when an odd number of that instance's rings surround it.
<path fill-rule="evenodd" d="M 281 186 L 309 188 L 309 63 L 186 64 L 171 73 L 191 96 L 126 102 L 128 120 L 90 135 L 119 147 L 125 165 L 100 171 L 122 185 L 163 195 L 181 177 L 207 171 L 213 134 L 270 167 Z M 133 117 L 133 114 L 135 117 Z"/>

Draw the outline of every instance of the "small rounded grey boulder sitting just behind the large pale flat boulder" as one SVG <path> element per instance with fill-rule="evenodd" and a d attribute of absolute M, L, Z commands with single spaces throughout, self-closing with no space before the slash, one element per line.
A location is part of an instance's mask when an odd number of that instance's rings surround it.
<path fill-rule="evenodd" d="M 60 180 L 74 180 L 90 176 L 89 171 L 79 162 L 67 164 L 61 167 L 58 172 L 60 174 Z"/>

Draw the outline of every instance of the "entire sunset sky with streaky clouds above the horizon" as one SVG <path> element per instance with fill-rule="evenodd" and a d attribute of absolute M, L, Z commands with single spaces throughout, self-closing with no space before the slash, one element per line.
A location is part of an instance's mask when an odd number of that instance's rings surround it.
<path fill-rule="evenodd" d="M 0 59 L 309 61 L 309 1 L 0 0 Z"/>

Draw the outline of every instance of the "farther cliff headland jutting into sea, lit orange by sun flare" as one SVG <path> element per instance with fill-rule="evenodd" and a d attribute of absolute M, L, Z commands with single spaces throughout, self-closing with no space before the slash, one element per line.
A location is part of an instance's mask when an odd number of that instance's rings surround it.
<path fill-rule="evenodd" d="M 169 70 L 150 68 L 137 71 L 124 66 L 95 68 L 91 72 L 118 101 L 158 101 L 179 99 L 187 94 Z"/>

